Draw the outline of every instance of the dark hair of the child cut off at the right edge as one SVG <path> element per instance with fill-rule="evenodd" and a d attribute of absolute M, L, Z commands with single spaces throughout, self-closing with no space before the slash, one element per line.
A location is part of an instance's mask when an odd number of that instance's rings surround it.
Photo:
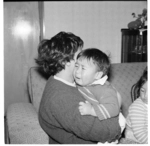
<path fill-rule="evenodd" d="M 147 76 L 147 67 L 143 71 L 142 76 L 138 80 L 136 84 L 134 84 L 131 88 L 131 93 L 132 93 L 132 102 L 136 100 L 140 96 L 140 89 L 144 85 L 144 83 L 147 81 L 148 76 Z"/>

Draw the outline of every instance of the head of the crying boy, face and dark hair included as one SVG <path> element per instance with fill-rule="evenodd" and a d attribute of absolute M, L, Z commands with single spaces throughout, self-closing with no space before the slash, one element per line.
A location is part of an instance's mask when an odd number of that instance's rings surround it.
<path fill-rule="evenodd" d="M 74 78 L 78 85 L 86 86 L 108 74 L 108 56 L 96 48 L 82 50 L 77 56 Z"/>

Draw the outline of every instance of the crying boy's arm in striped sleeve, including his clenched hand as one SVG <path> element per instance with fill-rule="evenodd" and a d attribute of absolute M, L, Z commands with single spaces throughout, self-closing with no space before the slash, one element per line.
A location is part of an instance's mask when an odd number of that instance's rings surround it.
<path fill-rule="evenodd" d="M 93 107 L 89 109 L 89 106 L 86 106 L 86 103 L 80 105 L 79 109 L 80 112 L 82 112 L 82 115 L 97 116 L 99 120 L 104 120 L 115 117 L 119 114 L 120 106 L 118 104 L 118 98 L 115 90 L 106 90 L 103 97 L 98 97 L 100 99 L 98 101 L 95 95 L 87 88 L 80 87 L 78 89 Z"/>

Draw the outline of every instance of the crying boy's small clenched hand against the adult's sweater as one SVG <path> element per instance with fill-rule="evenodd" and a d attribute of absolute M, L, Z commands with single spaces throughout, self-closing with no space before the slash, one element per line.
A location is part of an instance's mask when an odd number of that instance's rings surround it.
<path fill-rule="evenodd" d="M 91 115 L 92 105 L 88 102 L 79 102 L 79 111 L 81 115 Z"/>

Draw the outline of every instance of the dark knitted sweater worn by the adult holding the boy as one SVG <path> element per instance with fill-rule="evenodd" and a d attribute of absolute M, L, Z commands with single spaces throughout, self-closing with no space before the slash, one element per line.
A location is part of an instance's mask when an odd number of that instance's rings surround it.
<path fill-rule="evenodd" d="M 39 122 L 55 143 L 92 144 L 111 142 L 119 138 L 118 116 L 99 121 L 93 116 L 81 116 L 79 102 L 85 101 L 76 87 L 51 76 L 46 84 L 39 108 Z"/>

